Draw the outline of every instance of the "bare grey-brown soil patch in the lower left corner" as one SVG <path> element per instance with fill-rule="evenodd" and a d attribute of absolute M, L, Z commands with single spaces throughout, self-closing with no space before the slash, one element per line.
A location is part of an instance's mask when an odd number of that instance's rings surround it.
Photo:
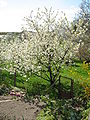
<path fill-rule="evenodd" d="M 0 96 L 0 120 L 36 120 L 43 105 L 42 102 L 29 103 Z"/>

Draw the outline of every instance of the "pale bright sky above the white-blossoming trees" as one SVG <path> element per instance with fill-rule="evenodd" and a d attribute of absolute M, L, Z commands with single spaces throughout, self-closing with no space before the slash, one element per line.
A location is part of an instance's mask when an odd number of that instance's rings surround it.
<path fill-rule="evenodd" d="M 51 8 L 66 13 L 71 21 L 80 10 L 82 0 L 0 0 L 0 32 L 19 32 L 24 17 L 38 8 Z"/>

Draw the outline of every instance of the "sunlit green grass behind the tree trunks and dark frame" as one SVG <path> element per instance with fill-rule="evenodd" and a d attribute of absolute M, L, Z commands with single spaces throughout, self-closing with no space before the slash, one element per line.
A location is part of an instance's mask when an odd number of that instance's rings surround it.
<path fill-rule="evenodd" d="M 63 76 L 72 78 L 74 80 L 74 87 L 76 89 L 77 86 L 79 86 L 78 82 L 80 83 L 85 80 L 88 80 L 88 82 L 90 82 L 88 72 L 90 72 L 90 68 L 84 69 L 82 62 L 77 60 L 75 61 L 75 65 L 63 66 L 60 71 L 60 74 Z M 28 92 L 34 93 L 34 94 L 35 94 L 35 91 L 36 91 L 36 94 L 39 91 L 42 91 L 41 93 L 39 92 L 40 94 L 42 94 L 50 85 L 48 81 L 40 77 L 37 77 L 36 75 L 25 77 L 25 76 L 21 76 L 20 74 L 17 74 L 16 80 L 17 80 L 16 82 L 17 87 L 21 89 L 26 89 L 28 90 Z M 61 83 L 63 87 L 67 89 L 67 91 L 70 90 L 71 81 L 69 79 L 61 77 Z M 13 86 L 14 75 L 10 74 L 6 70 L 0 71 L 0 85 L 2 84 Z"/>

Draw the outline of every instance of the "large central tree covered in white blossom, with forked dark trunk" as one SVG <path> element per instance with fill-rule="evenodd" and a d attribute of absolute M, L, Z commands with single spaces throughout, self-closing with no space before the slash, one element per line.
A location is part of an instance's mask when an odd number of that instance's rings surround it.
<path fill-rule="evenodd" d="M 28 43 L 26 56 L 30 69 L 38 72 L 38 76 L 50 80 L 51 85 L 58 79 L 61 67 L 70 61 L 78 49 L 77 41 L 82 39 L 84 30 L 79 27 L 73 30 L 66 17 L 59 18 L 59 14 L 51 9 L 41 11 L 36 16 L 31 13 L 26 18 L 27 27 L 24 29 L 25 40 Z M 46 75 L 46 76 L 45 76 Z"/>

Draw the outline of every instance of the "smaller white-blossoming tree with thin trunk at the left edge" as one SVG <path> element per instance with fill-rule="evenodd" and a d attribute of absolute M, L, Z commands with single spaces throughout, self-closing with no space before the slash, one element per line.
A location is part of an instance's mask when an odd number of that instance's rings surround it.
<path fill-rule="evenodd" d="M 17 33 L 7 33 L 0 39 L 0 69 L 5 69 L 14 74 L 14 86 L 16 86 L 16 71 L 19 67 L 17 65 L 19 43 L 20 39 Z"/>

